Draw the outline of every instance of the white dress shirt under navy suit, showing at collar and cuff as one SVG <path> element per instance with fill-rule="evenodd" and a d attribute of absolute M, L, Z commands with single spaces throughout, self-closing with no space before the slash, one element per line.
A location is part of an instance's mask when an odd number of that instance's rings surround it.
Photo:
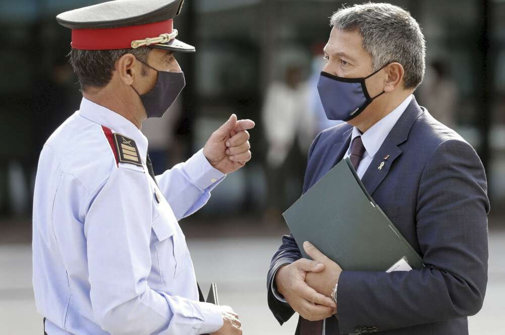
<path fill-rule="evenodd" d="M 409 106 L 411 100 L 413 98 L 413 95 L 409 95 L 401 104 L 398 105 L 391 113 L 387 114 L 385 117 L 380 119 L 377 123 L 375 123 L 372 127 L 370 127 L 367 131 L 364 133 L 361 133 L 361 131 L 357 128 L 354 127 L 352 128 L 352 135 L 351 135 L 351 142 L 349 144 L 349 148 L 347 149 L 347 152 L 345 153 L 343 159 L 348 158 L 350 156 L 350 150 L 352 146 L 352 141 L 354 141 L 355 138 L 358 136 L 361 136 L 361 139 L 363 141 L 363 145 L 365 146 L 365 153 L 363 154 L 363 158 L 360 161 L 360 165 L 358 165 L 358 170 L 356 171 L 358 173 L 358 176 L 363 178 L 363 175 L 367 171 L 368 167 L 370 166 L 370 163 L 374 159 L 375 154 L 377 151 L 379 151 L 380 147 L 384 143 L 384 140 L 386 140 L 387 136 L 389 135 L 389 132 L 391 129 L 394 127 L 400 116 L 405 112 L 407 109 L 407 106 Z M 274 274 L 275 278 L 275 274 Z M 274 287 L 274 282 L 272 281 L 272 293 L 274 296 L 282 301 L 286 302 L 286 300 L 279 294 L 279 292 L 275 289 Z M 338 293 L 337 293 L 338 295 Z M 337 298 L 338 300 L 338 298 Z M 323 332 L 322 335 L 325 335 L 325 326 L 326 322 L 323 322 Z"/>

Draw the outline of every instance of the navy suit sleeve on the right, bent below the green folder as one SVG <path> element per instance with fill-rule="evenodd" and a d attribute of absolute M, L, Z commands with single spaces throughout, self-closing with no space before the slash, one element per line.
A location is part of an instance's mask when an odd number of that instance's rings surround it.
<path fill-rule="evenodd" d="M 473 148 L 438 146 L 421 176 L 417 236 L 426 267 L 410 272 L 344 271 L 337 302 L 341 333 L 379 331 L 476 314 L 487 284 L 486 176 Z"/>

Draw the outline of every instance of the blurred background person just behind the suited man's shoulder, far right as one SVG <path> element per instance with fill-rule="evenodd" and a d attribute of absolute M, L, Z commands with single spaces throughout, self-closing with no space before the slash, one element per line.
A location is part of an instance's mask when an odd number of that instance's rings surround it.
<path fill-rule="evenodd" d="M 428 66 L 419 93 L 420 100 L 435 119 L 449 128 L 456 126 L 458 86 L 444 61 L 437 59 Z"/>

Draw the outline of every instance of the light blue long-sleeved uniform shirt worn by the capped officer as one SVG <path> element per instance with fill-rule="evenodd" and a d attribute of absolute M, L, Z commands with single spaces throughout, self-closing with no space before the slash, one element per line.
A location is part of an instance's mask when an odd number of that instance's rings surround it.
<path fill-rule="evenodd" d="M 142 166 L 117 163 L 103 126 L 135 141 Z M 200 150 L 157 176 L 158 188 L 146 153 L 133 123 L 85 98 L 47 140 L 35 182 L 33 288 L 48 335 L 222 327 L 220 307 L 198 302 L 178 220 L 204 206 L 224 174 Z"/>

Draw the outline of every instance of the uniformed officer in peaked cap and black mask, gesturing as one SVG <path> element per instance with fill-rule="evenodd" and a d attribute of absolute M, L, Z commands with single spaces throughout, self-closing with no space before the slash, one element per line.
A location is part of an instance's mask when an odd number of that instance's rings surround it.
<path fill-rule="evenodd" d="M 40 154 L 33 287 L 48 335 L 241 334 L 202 302 L 178 220 L 251 158 L 251 120 L 232 115 L 203 149 L 155 176 L 140 131 L 184 87 L 173 18 L 183 0 L 117 0 L 58 15 L 72 29 L 80 109 Z M 50 111 L 48 111 L 50 112 Z"/>

